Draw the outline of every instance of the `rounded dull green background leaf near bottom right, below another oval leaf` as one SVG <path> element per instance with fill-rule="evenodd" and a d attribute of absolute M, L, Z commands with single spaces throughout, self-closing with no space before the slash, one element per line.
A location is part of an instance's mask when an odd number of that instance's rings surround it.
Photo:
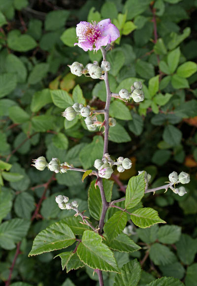
<path fill-rule="evenodd" d="M 175 254 L 168 247 L 154 243 L 150 248 L 150 259 L 155 265 L 167 265 L 176 262 Z"/>

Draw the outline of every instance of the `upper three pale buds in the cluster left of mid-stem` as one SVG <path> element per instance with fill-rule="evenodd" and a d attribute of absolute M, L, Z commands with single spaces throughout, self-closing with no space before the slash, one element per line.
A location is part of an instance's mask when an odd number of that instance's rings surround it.
<path fill-rule="evenodd" d="M 62 116 L 64 116 L 68 121 L 72 121 L 78 114 L 82 117 L 88 117 L 91 114 L 90 106 L 84 107 L 83 104 L 75 103 L 72 107 L 67 107 Z"/>

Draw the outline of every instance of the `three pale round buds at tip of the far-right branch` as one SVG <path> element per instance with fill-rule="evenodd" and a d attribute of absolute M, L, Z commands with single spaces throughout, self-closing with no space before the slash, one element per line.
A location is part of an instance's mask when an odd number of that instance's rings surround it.
<path fill-rule="evenodd" d="M 174 171 L 169 174 L 169 181 L 171 183 L 177 184 L 177 183 L 182 183 L 182 184 L 187 184 L 190 182 L 190 175 L 185 172 L 181 172 L 179 175 Z M 178 194 L 179 196 L 184 196 L 187 191 L 184 186 L 181 186 L 179 188 L 174 188 L 173 186 L 170 186 L 170 189 L 175 193 Z"/>

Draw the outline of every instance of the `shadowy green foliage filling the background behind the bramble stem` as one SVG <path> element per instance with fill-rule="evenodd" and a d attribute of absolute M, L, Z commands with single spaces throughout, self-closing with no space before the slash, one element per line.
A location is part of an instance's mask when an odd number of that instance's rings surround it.
<path fill-rule="evenodd" d="M 191 175 L 184 197 L 170 191 L 146 194 L 143 205 L 154 207 L 167 225 L 133 229 L 131 238 L 142 250 L 131 253 L 125 244 L 123 252 L 114 251 L 115 258 L 121 273 L 141 263 L 141 278 L 131 285 L 154 286 L 151 282 L 162 276 L 197 285 L 196 7 L 196 0 L 0 0 L 0 285 L 13 261 L 12 286 L 88 286 L 92 279 L 97 284 L 88 266 L 69 271 L 67 265 L 68 274 L 62 272 L 60 258 L 53 260 L 61 250 L 28 253 L 38 232 L 73 216 L 58 208 L 57 194 L 77 199 L 81 211 L 99 218 L 101 201 L 91 207 L 90 179 L 83 183 L 78 172 L 39 172 L 31 161 L 46 154 L 48 160 L 58 157 L 86 169 L 102 156 L 102 132 L 89 132 L 83 120 L 68 122 L 60 114 L 74 102 L 104 107 L 104 83 L 76 77 L 67 67 L 101 60 L 100 51 L 84 52 L 73 44 L 79 21 L 104 18 L 121 32 L 107 54 L 111 90 L 130 89 L 141 80 L 145 92 L 139 105 L 114 100 L 110 106 L 118 123 L 110 128 L 110 154 L 133 162 L 119 179 L 127 184 L 137 170 L 146 170 L 151 187 L 157 187 L 172 171 Z M 110 184 L 112 199 L 121 197 L 117 178 Z M 125 285 L 115 273 L 105 273 L 104 279 L 106 285 Z M 169 285 L 164 278 L 163 283 Z"/>

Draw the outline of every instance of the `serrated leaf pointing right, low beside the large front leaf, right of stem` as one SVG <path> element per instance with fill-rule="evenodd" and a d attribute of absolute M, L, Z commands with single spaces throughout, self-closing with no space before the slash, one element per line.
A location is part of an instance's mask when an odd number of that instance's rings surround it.
<path fill-rule="evenodd" d="M 105 237 L 106 238 L 106 237 Z M 111 241 L 106 239 L 103 241 L 110 249 L 117 250 L 120 252 L 134 252 L 140 250 L 141 248 L 135 244 L 131 238 L 124 233 L 119 234 L 117 237 L 113 238 Z"/>

